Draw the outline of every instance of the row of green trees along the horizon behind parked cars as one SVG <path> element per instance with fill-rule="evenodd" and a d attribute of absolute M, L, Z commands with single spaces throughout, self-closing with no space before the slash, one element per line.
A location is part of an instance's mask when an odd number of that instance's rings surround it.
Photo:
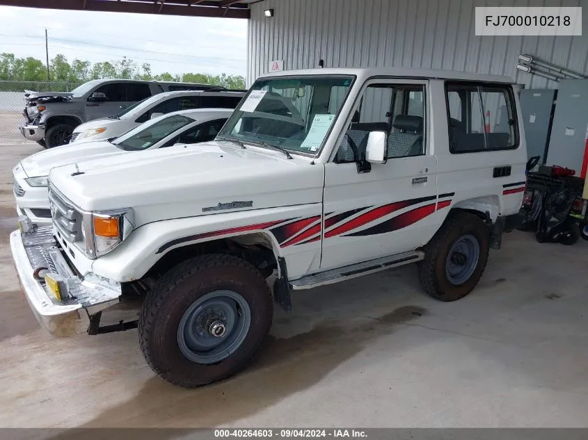
<path fill-rule="evenodd" d="M 240 75 L 211 75 L 201 73 L 186 73 L 183 75 L 163 72 L 152 74 L 151 65 L 143 63 L 139 66 L 134 60 L 123 57 L 118 61 L 89 61 L 72 60 L 62 54 L 54 56 L 49 61 L 51 82 L 85 83 L 91 79 L 124 78 L 155 81 L 182 81 L 185 83 L 201 83 L 222 85 L 226 88 L 245 88 L 245 79 Z M 14 54 L 0 54 L 0 81 L 47 81 L 47 66 L 35 58 L 17 58 Z M 56 90 L 57 91 L 57 90 Z"/>

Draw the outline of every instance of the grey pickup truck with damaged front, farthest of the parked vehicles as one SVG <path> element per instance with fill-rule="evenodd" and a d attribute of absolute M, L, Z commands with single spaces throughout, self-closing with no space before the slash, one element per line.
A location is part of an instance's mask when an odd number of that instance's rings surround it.
<path fill-rule="evenodd" d="M 218 90 L 212 84 L 130 79 L 97 79 L 67 93 L 25 90 L 24 120 L 19 124 L 19 131 L 43 147 L 57 147 L 70 141 L 73 129 L 79 124 L 114 115 L 137 101 L 178 87 Z"/>

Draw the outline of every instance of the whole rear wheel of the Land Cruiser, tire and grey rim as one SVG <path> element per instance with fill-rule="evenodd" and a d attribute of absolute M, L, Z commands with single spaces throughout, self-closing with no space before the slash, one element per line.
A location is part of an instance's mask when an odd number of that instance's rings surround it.
<path fill-rule="evenodd" d="M 468 295 L 488 261 L 489 231 L 477 215 L 454 211 L 431 239 L 418 265 L 429 295 L 450 302 Z"/>

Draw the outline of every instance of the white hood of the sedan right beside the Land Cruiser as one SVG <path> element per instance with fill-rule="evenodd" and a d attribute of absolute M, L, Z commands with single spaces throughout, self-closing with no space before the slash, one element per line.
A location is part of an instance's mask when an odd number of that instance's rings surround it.
<path fill-rule="evenodd" d="M 80 163 L 95 158 L 106 158 L 127 153 L 106 140 L 85 142 L 77 145 L 62 145 L 32 154 L 24 158 L 20 165 L 29 177 L 47 176 L 49 170 L 69 163 Z"/>

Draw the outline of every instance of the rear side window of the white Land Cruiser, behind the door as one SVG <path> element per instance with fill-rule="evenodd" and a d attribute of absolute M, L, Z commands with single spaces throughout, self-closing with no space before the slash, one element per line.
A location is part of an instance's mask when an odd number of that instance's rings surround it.
<path fill-rule="evenodd" d="M 447 83 L 445 90 L 452 153 L 518 146 L 518 127 L 510 88 L 504 85 Z M 506 123 L 500 124 L 501 121 Z"/>

